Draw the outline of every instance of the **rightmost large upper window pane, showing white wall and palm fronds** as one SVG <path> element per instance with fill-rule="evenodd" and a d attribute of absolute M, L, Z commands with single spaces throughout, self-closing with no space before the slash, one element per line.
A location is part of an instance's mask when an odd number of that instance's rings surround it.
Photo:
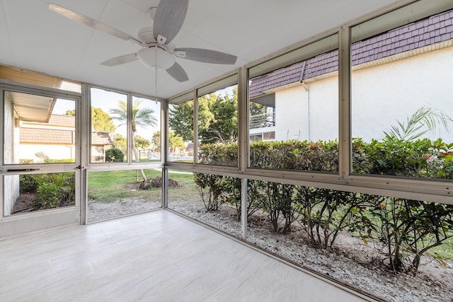
<path fill-rule="evenodd" d="M 379 33 L 352 28 L 353 173 L 453 179 L 453 10 L 420 9 Z"/>

